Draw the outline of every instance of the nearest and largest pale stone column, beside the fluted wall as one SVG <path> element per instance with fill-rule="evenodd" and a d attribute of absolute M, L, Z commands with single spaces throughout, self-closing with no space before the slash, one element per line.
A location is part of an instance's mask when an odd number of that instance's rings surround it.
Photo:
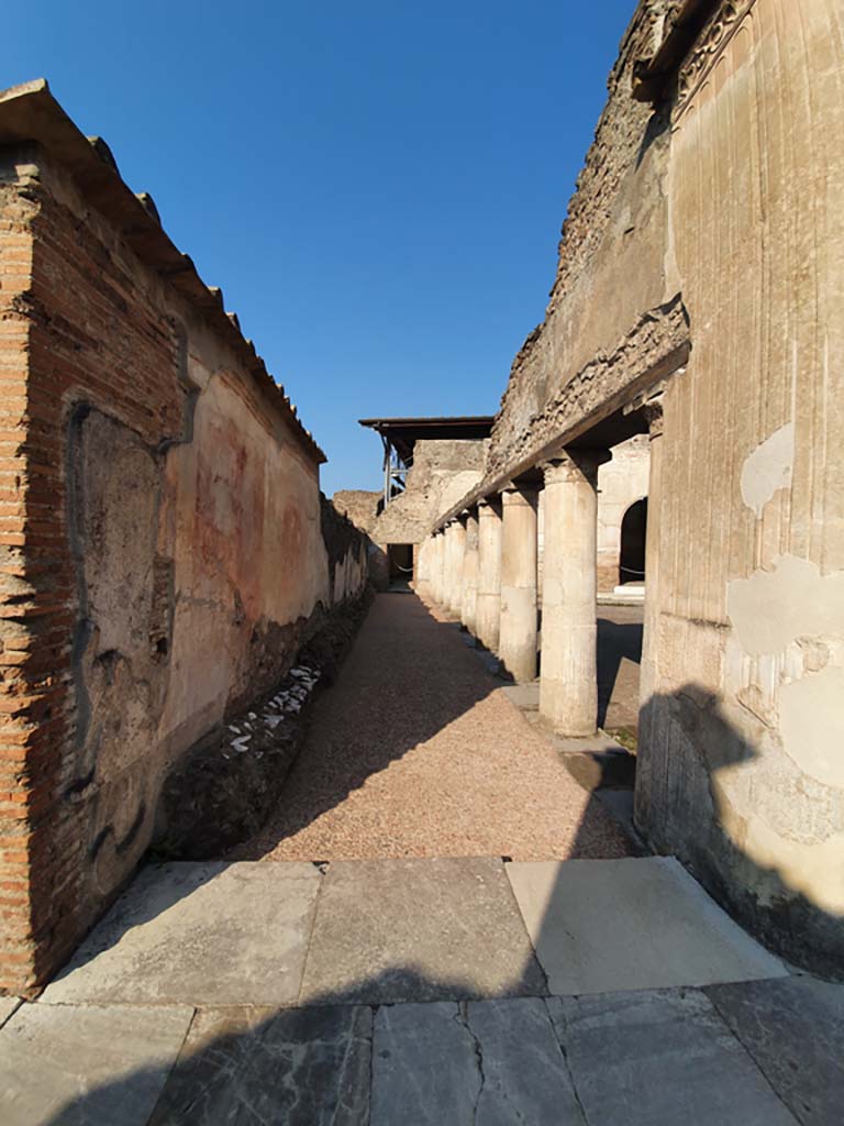
<path fill-rule="evenodd" d="M 598 466 L 604 452 L 563 454 L 545 470 L 539 711 L 564 735 L 598 723 Z"/>

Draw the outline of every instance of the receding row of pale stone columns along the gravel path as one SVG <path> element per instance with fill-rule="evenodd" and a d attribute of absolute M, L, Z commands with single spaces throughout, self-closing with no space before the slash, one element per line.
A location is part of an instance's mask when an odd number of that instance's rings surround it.
<path fill-rule="evenodd" d="M 607 450 L 560 453 L 542 484 L 511 481 L 439 528 L 425 545 L 431 595 L 518 682 L 539 672 L 539 709 L 567 735 L 598 716 L 598 467 Z M 537 511 L 544 488 L 541 661 Z"/>

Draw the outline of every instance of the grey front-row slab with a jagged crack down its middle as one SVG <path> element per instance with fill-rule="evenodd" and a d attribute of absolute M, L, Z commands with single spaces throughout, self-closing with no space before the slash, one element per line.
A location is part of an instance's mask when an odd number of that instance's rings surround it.
<path fill-rule="evenodd" d="M 538 998 L 381 1008 L 371 1126 L 585 1126 Z"/>

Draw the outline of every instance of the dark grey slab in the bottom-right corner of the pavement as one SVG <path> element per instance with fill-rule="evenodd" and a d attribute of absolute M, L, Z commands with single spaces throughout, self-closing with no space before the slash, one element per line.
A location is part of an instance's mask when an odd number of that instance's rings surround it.
<path fill-rule="evenodd" d="M 844 985 L 785 977 L 706 993 L 803 1126 L 841 1126 Z"/>

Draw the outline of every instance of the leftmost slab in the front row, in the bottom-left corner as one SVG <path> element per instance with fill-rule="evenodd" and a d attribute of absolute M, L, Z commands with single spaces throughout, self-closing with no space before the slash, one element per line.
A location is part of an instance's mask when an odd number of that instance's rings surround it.
<path fill-rule="evenodd" d="M 0 1030 L 3 1126 L 145 1126 L 188 1007 L 25 1004 Z"/>

